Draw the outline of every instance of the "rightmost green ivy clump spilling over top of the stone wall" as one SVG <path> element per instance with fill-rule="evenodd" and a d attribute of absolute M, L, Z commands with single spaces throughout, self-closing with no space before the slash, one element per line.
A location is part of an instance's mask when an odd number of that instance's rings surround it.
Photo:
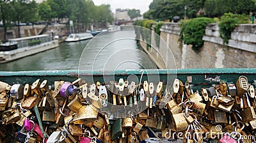
<path fill-rule="evenodd" d="M 249 22 L 250 17 L 245 15 L 237 15 L 233 13 L 225 13 L 220 18 L 220 37 L 223 39 L 223 44 L 228 43 L 231 38 L 231 33 L 238 24 Z"/>

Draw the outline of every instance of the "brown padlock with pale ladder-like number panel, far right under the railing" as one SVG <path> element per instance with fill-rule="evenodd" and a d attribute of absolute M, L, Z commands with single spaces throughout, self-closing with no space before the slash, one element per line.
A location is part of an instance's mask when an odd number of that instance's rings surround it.
<path fill-rule="evenodd" d="M 237 88 L 237 96 L 243 96 L 246 91 L 249 89 L 248 80 L 245 76 L 240 76 L 239 79 L 236 81 L 236 88 Z"/>

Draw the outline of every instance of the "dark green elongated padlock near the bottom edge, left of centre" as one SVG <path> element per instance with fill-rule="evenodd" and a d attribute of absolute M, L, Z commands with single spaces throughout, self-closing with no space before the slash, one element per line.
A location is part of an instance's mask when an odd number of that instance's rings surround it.
<path fill-rule="evenodd" d="M 116 119 L 113 123 L 113 125 L 111 126 L 111 139 L 115 140 L 118 137 L 120 137 L 120 135 L 122 135 L 122 119 Z"/>

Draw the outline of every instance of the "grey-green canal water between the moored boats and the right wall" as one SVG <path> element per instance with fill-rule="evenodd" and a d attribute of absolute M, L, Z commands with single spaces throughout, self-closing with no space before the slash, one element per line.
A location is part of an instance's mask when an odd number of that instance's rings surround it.
<path fill-rule="evenodd" d="M 1 71 L 154 69 L 138 47 L 133 29 L 99 34 L 92 40 L 60 43 L 60 47 L 0 64 Z"/>

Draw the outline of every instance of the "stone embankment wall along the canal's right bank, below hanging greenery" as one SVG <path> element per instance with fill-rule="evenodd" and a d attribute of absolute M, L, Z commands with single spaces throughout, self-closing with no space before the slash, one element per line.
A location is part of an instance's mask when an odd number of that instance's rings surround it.
<path fill-rule="evenodd" d="M 180 27 L 177 23 L 164 23 L 160 29 L 159 47 L 165 54 L 166 45 L 172 50 L 177 68 L 255 68 L 256 67 L 256 24 L 241 24 L 234 29 L 227 45 L 220 38 L 218 24 L 209 24 L 203 37 L 204 46 L 196 53 L 191 45 L 179 41 Z M 152 36 L 154 45 L 154 36 Z M 166 42 L 166 43 L 165 43 Z M 140 42 L 141 43 L 141 42 Z M 147 50 L 145 45 L 141 45 Z M 152 48 L 150 48 L 152 49 Z M 148 49 L 152 59 L 154 50 Z M 151 52 L 152 51 L 152 52 Z M 164 68 L 159 61 L 159 68 Z M 157 64 L 158 65 L 158 64 Z"/>

